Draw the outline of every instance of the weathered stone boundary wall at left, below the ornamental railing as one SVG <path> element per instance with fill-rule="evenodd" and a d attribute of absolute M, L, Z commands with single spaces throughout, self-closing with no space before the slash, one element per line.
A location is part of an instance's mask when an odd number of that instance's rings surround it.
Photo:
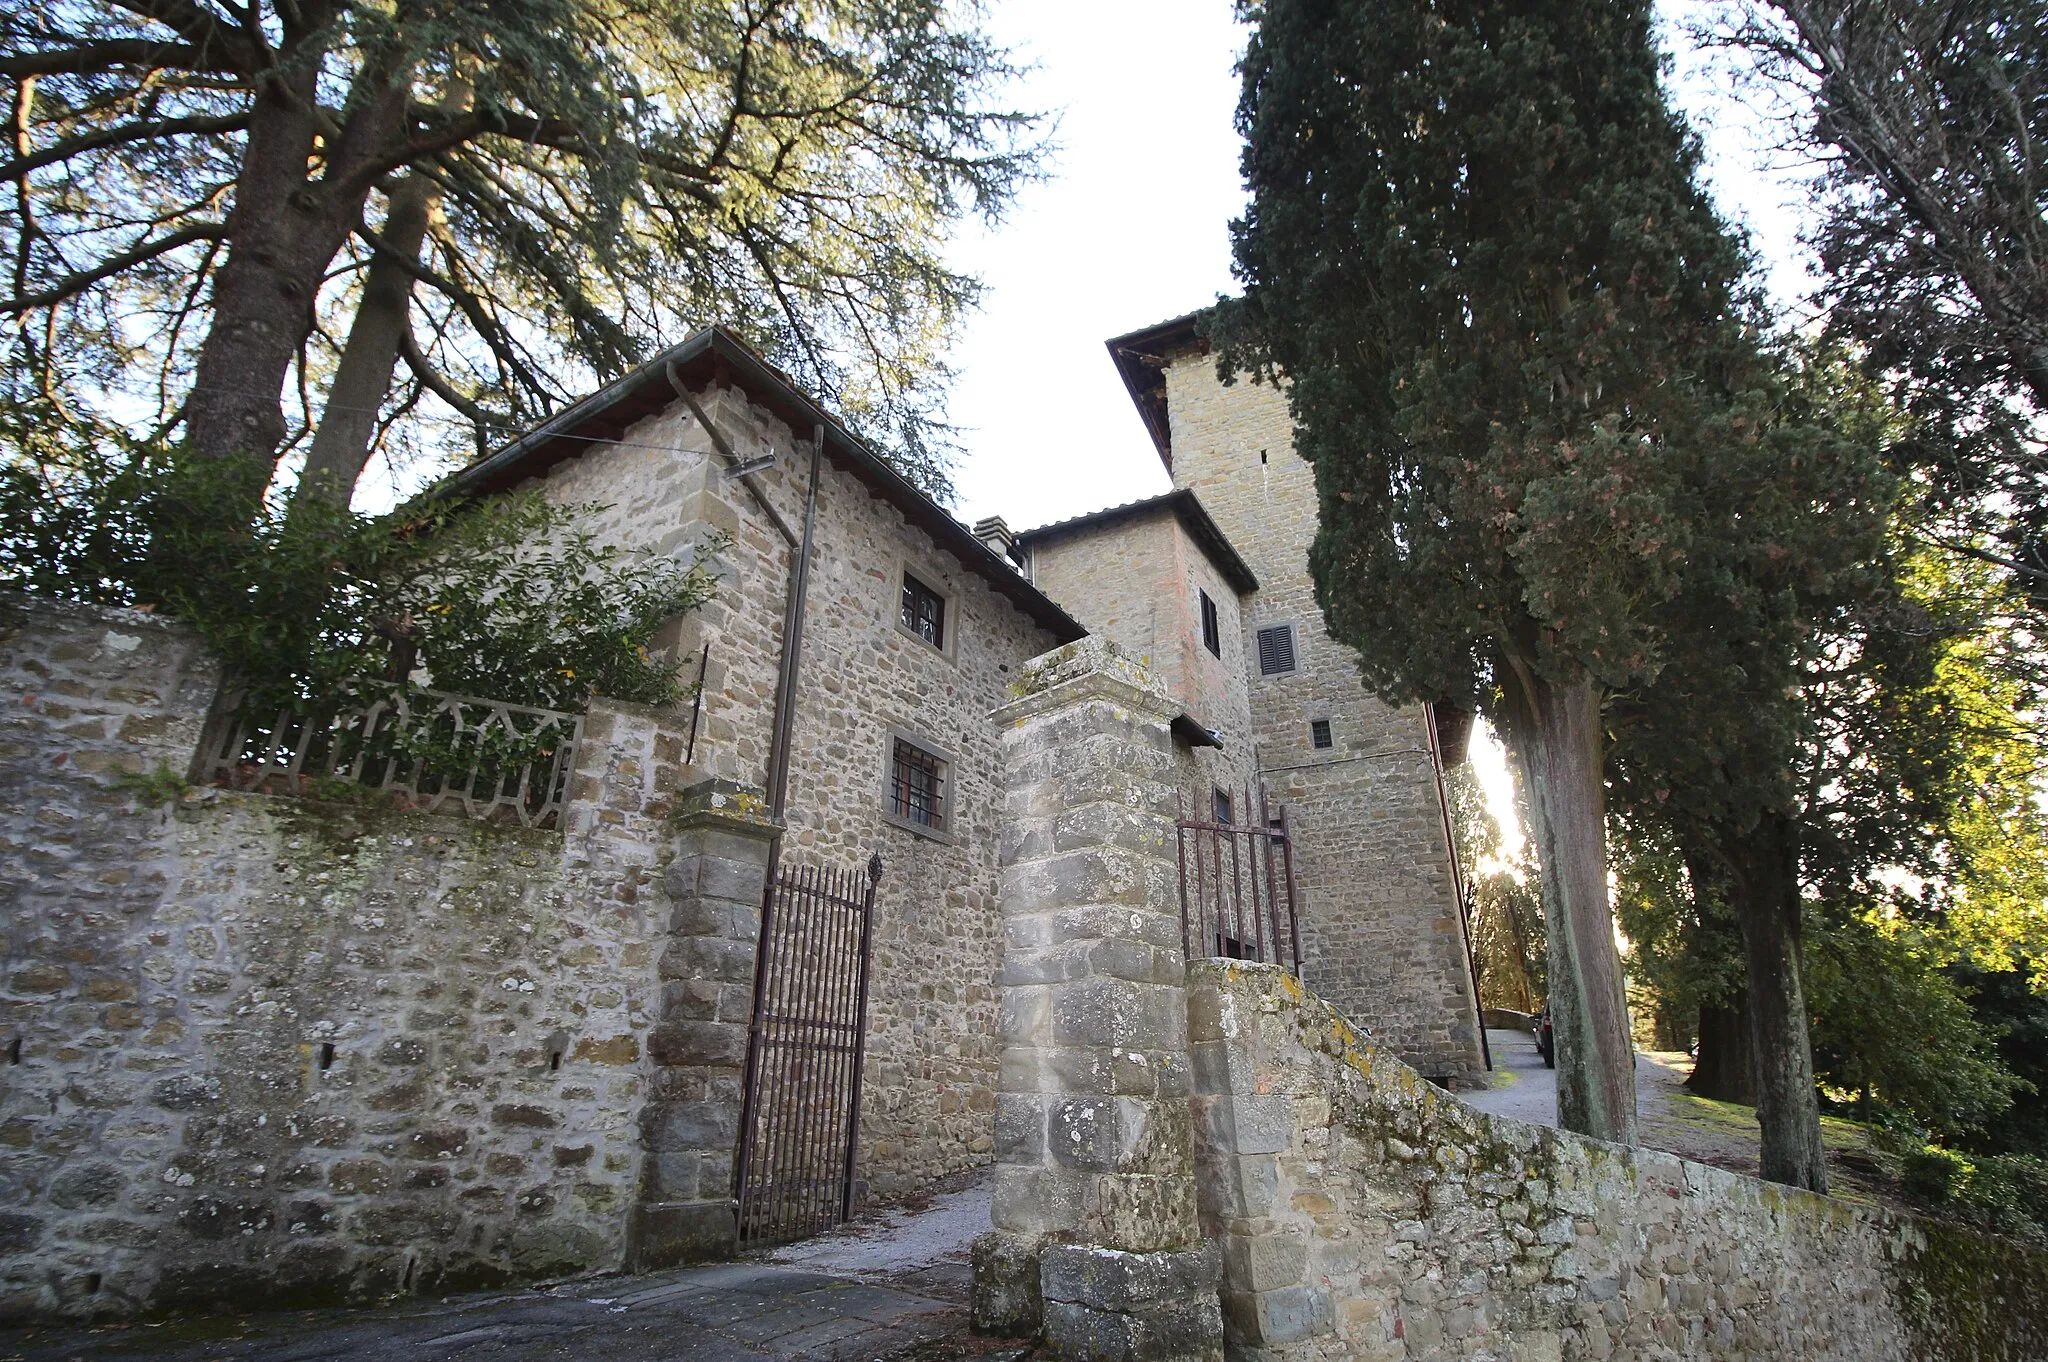
<path fill-rule="evenodd" d="M 594 705 L 563 832 L 152 807 L 115 776 L 184 768 L 193 641 L 0 608 L 0 1313 L 618 1266 L 676 733 Z"/>

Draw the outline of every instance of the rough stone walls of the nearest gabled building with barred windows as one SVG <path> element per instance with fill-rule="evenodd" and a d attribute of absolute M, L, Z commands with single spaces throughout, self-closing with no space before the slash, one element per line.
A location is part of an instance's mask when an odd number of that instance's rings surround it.
<path fill-rule="evenodd" d="M 733 387 L 702 393 L 702 406 L 741 457 L 776 455 L 762 487 L 801 526 L 809 432 Z M 719 598 L 678 625 L 670 653 L 694 678 L 711 649 L 692 778 L 764 786 L 793 555 L 709 451 L 676 403 L 563 461 L 541 487 L 563 504 L 608 504 L 586 524 L 612 543 L 684 553 L 731 537 Z M 883 858 L 858 1178 L 862 1198 L 897 1200 L 993 1157 L 1001 754 L 987 713 L 1053 639 L 829 459 L 815 543 L 784 856 L 840 870 Z M 897 623 L 905 567 L 946 596 L 944 651 Z M 688 713 L 676 721 L 686 727 Z M 897 731 L 952 756 L 944 840 L 883 817 Z"/>

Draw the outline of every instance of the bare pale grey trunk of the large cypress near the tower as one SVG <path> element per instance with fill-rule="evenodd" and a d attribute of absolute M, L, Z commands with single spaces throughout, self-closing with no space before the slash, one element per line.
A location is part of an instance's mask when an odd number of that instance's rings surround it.
<path fill-rule="evenodd" d="M 1636 1051 L 1608 901 L 1599 690 L 1526 670 L 1503 684 L 1507 737 L 1522 764 L 1542 860 L 1556 1028 L 1556 1120 L 1567 1131 L 1636 1143 Z"/>

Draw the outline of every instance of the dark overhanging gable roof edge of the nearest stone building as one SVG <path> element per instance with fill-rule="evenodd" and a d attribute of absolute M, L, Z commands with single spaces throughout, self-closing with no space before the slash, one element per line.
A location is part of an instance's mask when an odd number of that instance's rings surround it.
<path fill-rule="evenodd" d="M 932 543 L 940 549 L 961 559 L 969 571 L 983 578 L 1034 625 L 1051 633 L 1059 643 L 1071 643 L 1087 635 L 1071 614 L 1018 576 L 1008 559 L 975 539 L 944 506 L 913 487 L 881 455 L 846 430 L 838 418 L 811 401 L 780 369 L 764 360 L 750 344 L 723 326 L 707 326 L 680 344 L 662 350 L 633 373 L 614 379 L 516 440 L 459 469 L 440 483 L 440 490 L 457 496 L 504 492 L 528 477 L 547 475 L 557 463 L 584 453 L 592 444 L 618 440 L 637 420 L 678 401 L 676 389 L 668 381 L 670 365 L 676 367 L 678 375 L 690 387 L 715 381 L 739 387 L 739 391 L 762 408 L 768 408 L 768 412 L 797 434 L 823 426 L 825 457 L 836 467 L 858 477 L 870 494 L 889 502 L 907 522 L 930 535 Z"/>

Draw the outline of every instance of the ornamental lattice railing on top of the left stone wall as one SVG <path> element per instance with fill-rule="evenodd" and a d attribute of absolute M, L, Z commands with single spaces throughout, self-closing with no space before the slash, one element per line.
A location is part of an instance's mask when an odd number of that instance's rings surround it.
<path fill-rule="evenodd" d="M 199 776 L 301 797 L 369 786 L 426 813 L 555 827 L 582 735 L 582 715 L 354 680 L 330 705 L 231 711 Z"/>

